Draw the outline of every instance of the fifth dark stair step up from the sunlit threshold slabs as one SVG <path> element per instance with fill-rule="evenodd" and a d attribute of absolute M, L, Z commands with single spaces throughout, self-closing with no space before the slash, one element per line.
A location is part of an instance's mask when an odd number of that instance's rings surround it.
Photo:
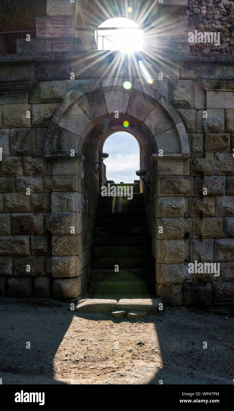
<path fill-rule="evenodd" d="M 148 244 L 149 239 L 148 236 L 94 236 L 93 238 L 93 245 L 94 246 L 134 246 L 134 245 L 139 245 L 139 244 Z"/>

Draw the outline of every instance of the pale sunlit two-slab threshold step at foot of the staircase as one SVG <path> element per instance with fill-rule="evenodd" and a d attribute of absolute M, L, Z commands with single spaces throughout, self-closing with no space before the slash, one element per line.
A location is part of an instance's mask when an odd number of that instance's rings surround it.
<path fill-rule="evenodd" d="M 77 302 L 76 312 L 110 313 L 113 311 L 143 311 L 147 314 L 160 314 L 159 298 L 131 298 L 131 299 L 105 299 L 85 298 Z"/>

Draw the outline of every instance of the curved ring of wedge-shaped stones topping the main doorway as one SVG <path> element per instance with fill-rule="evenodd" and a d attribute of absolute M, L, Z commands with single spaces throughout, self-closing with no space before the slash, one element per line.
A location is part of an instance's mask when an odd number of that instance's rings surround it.
<path fill-rule="evenodd" d="M 124 120 L 142 129 L 164 154 L 189 155 L 184 124 L 166 97 L 139 80 L 132 88 L 116 81 L 83 80 L 70 85 L 68 96 L 55 111 L 45 140 L 46 157 L 66 157 L 70 150 L 81 153 L 87 136 L 98 125 Z M 117 117 L 118 116 L 118 117 Z"/>

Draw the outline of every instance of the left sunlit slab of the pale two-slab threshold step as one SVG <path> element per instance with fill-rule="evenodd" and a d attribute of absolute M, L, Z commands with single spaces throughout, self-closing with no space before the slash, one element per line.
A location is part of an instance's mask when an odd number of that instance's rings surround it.
<path fill-rule="evenodd" d="M 110 312 L 116 309 L 117 300 L 108 300 L 101 298 L 86 298 L 80 300 L 75 306 L 77 312 Z M 123 312 L 118 311 L 118 312 Z M 124 311 L 126 313 L 126 311 Z M 112 314 L 112 313 L 111 313 Z M 119 318 L 119 317 L 116 317 Z"/>

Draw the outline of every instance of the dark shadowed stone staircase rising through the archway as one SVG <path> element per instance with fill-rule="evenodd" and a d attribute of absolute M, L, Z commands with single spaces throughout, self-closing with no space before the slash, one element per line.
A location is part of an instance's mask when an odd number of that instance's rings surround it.
<path fill-rule="evenodd" d="M 92 298 L 149 298 L 154 295 L 143 194 L 139 181 L 132 186 L 131 200 L 99 194 L 89 281 Z M 118 272 L 115 272 L 116 265 Z"/>

